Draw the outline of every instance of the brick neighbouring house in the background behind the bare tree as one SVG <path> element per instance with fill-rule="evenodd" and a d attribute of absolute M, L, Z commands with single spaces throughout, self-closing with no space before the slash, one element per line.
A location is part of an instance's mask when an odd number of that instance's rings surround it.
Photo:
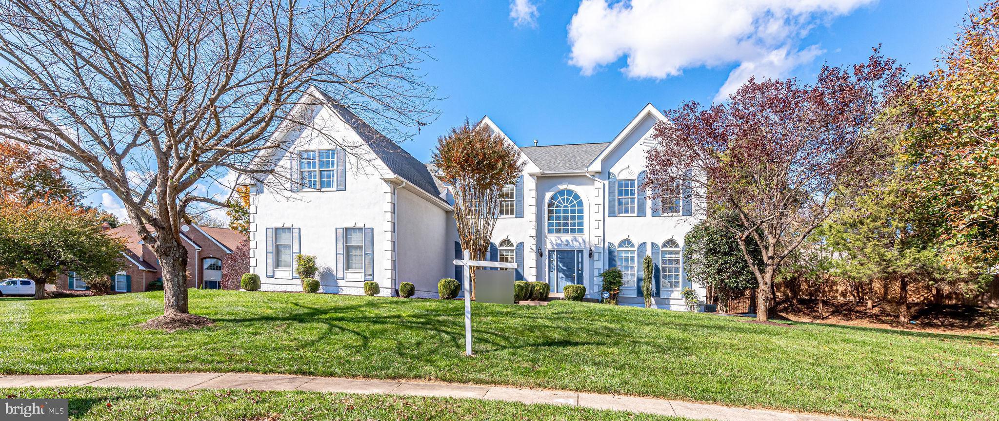
<path fill-rule="evenodd" d="M 193 223 L 183 225 L 181 230 L 182 242 L 188 249 L 188 287 L 221 288 L 222 267 L 230 263 L 227 261 L 228 257 L 240 242 L 247 240 L 247 236 L 229 228 L 198 226 Z M 112 292 L 145 291 L 150 282 L 161 278 L 162 272 L 156 255 L 139 238 L 133 224 L 111 228 L 107 232 L 126 239 L 125 251 L 122 252 L 125 270 L 113 275 L 115 281 L 111 285 Z M 56 288 L 88 289 L 84 279 L 76 277 L 72 271 L 59 275 Z"/>

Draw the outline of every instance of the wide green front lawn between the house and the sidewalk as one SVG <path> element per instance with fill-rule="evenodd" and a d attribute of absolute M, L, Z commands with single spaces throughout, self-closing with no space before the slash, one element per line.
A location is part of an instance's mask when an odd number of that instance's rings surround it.
<path fill-rule="evenodd" d="M 999 338 L 558 301 L 191 291 L 211 327 L 136 324 L 162 292 L 0 302 L 0 373 L 225 371 L 418 378 L 894 420 L 999 419 Z"/>

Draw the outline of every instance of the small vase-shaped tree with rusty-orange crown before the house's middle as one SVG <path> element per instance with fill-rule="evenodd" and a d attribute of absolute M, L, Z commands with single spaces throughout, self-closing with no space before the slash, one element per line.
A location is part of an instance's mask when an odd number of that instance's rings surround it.
<path fill-rule="evenodd" d="M 455 197 L 455 222 L 462 248 L 485 260 L 500 212 L 500 192 L 523 171 L 520 152 L 486 125 L 468 120 L 438 139 L 433 162 L 438 178 Z M 476 274 L 472 270 L 472 296 Z"/>

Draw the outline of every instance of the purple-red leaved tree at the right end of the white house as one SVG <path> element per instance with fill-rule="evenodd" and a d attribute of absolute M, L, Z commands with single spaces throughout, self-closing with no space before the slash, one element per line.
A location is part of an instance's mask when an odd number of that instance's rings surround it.
<path fill-rule="evenodd" d="M 844 194 L 885 172 L 884 139 L 897 125 L 882 112 L 904 91 L 904 75 L 875 49 L 864 64 L 823 66 L 815 84 L 750 78 L 727 102 L 688 102 L 657 124 L 646 187 L 690 195 L 695 211 L 735 234 L 759 284 L 758 320 L 769 315 L 784 259 Z"/>

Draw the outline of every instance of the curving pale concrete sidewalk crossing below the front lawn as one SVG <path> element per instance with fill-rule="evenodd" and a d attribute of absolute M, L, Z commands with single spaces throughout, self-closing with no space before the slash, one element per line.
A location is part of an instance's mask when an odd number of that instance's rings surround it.
<path fill-rule="evenodd" d="M 311 390 L 346 393 L 492 399 L 525 404 L 582 406 L 595 409 L 673 415 L 718 421 L 843 421 L 845 418 L 733 408 L 633 396 L 519 389 L 457 383 L 359 380 L 331 377 L 238 373 L 0 375 L 3 387 L 150 387 L 161 389 Z"/>

